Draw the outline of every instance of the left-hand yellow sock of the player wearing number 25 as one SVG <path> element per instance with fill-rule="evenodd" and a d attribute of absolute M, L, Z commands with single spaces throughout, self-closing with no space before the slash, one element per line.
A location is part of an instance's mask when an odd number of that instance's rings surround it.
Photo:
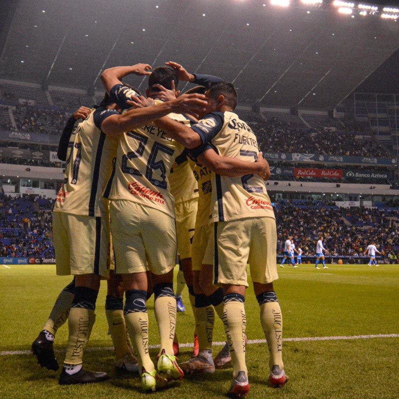
<path fill-rule="evenodd" d="M 138 354 L 139 372 L 142 367 L 151 373 L 155 370 L 154 363 L 148 351 L 148 314 L 144 312 L 132 312 L 125 314 L 129 336 L 135 353 Z"/>

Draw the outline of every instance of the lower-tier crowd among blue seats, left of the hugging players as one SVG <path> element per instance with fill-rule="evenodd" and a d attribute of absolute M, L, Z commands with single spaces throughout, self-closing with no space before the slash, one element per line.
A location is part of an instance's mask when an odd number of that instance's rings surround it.
<path fill-rule="evenodd" d="M 41 197 L 0 194 L 0 256 L 54 257 L 50 241 L 53 203 Z"/>

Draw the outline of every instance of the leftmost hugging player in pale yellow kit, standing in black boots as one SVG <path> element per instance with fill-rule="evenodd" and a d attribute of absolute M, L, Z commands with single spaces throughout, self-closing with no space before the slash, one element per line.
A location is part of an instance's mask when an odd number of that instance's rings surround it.
<path fill-rule="evenodd" d="M 152 107 L 133 110 L 133 114 L 137 126 L 141 126 L 153 116 L 169 111 L 170 108 Z M 101 192 L 112 172 L 113 147 L 117 142 L 106 139 L 101 126 L 108 119 L 124 126 L 131 114 L 122 116 L 110 108 L 98 108 L 76 126 L 71 136 L 65 182 L 53 213 L 57 274 L 74 274 L 76 280 L 69 313 L 69 342 L 59 384 L 92 383 L 108 378 L 105 373 L 82 369 L 83 351 L 94 324 L 100 276 L 108 275 L 106 256 L 100 256 L 102 243 L 108 237 L 101 223 L 105 206 Z"/>

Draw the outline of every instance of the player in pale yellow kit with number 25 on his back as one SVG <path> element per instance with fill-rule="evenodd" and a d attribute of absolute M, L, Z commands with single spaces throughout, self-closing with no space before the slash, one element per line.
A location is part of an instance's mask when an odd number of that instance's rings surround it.
<path fill-rule="evenodd" d="M 116 67 L 104 71 L 101 76 L 111 98 L 124 108 L 135 95 L 121 84 L 121 78 L 131 70 L 132 67 Z M 171 89 L 172 81 L 177 87 L 178 78 L 172 68 L 155 69 L 149 77 L 147 95 L 156 96 L 157 84 Z M 161 102 L 155 108 L 160 112 L 168 107 L 170 112 L 190 112 L 185 100 L 198 99 L 201 107 L 205 104 L 200 101 L 202 97 L 184 95 Z M 132 111 L 126 114 L 129 112 Z M 171 116 L 181 122 L 187 119 L 180 114 Z M 142 388 L 156 390 L 162 388 L 166 380 L 178 380 L 184 375 L 173 352 L 176 328 L 173 268 L 177 247 L 174 199 L 168 182 L 171 167 L 184 147 L 153 125 L 130 130 L 125 126 L 121 128 L 116 121 L 106 122 L 102 128 L 108 134 L 120 134 L 115 175 L 110 190 L 105 193 L 110 199 L 115 271 L 122 274 L 124 281 L 125 319 L 139 356 Z M 155 315 L 161 336 L 158 374 L 148 351 L 147 267 L 151 271 Z"/>

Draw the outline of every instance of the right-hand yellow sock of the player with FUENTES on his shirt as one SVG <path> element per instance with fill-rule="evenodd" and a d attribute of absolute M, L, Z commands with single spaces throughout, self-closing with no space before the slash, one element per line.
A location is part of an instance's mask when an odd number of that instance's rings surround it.
<path fill-rule="evenodd" d="M 283 318 L 278 302 L 266 302 L 260 305 L 260 322 L 269 348 L 269 367 L 278 365 L 284 370 L 283 350 Z"/>

